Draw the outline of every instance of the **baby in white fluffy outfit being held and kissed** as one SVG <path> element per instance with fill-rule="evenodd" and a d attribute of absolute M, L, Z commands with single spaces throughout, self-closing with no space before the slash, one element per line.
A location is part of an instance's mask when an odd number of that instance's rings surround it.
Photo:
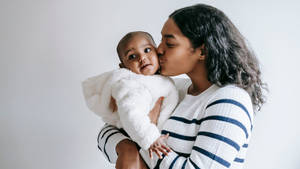
<path fill-rule="evenodd" d="M 157 75 L 159 70 L 156 45 L 147 32 L 130 32 L 117 46 L 120 69 L 88 78 L 82 83 L 90 110 L 108 124 L 124 128 L 130 138 L 148 150 L 166 154 L 168 135 L 161 135 L 164 122 L 178 102 L 178 92 L 169 77 Z M 157 126 L 148 113 L 156 101 L 164 97 Z"/>

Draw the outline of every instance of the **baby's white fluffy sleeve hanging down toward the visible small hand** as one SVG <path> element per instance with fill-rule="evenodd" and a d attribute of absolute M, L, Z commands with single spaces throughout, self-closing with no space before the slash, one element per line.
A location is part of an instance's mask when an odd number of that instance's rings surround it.
<path fill-rule="evenodd" d="M 116 100 L 124 130 L 141 148 L 148 149 L 160 136 L 148 116 L 153 99 L 150 91 L 137 81 L 122 79 L 112 86 L 112 96 Z"/>

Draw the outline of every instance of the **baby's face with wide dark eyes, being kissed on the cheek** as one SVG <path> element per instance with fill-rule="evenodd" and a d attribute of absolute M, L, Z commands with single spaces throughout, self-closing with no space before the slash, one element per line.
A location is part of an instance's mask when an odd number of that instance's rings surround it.
<path fill-rule="evenodd" d="M 159 69 L 156 48 L 145 35 L 135 35 L 121 50 L 123 64 L 129 70 L 143 75 L 153 75 Z"/>

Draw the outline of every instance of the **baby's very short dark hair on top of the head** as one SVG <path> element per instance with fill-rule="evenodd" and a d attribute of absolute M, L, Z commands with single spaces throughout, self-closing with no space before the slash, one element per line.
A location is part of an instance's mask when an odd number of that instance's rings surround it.
<path fill-rule="evenodd" d="M 150 33 L 148 32 L 143 32 L 143 31 L 134 31 L 134 32 L 129 32 L 127 33 L 118 43 L 117 46 L 117 53 L 120 59 L 120 62 L 123 63 L 122 59 L 121 59 L 121 49 L 124 46 L 124 44 L 128 43 L 132 37 L 136 36 L 136 35 L 144 35 L 145 37 L 149 38 L 150 41 L 153 43 L 154 46 L 156 46 L 153 37 L 151 36 Z"/>

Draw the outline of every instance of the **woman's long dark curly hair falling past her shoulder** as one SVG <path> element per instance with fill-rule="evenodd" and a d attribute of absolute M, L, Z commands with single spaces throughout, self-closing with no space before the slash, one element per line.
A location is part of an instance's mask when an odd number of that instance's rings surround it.
<path fill-rule="evenodd" d="M 235 84 L 245 89 L 252 99 L 254 110 L 265 103 L 258 60 L 246 44 L 245 38 L 230 19 L 220 10 L 205 4 L 196 4 L 174 11 L 173 19 L 193 48 L 204 44 L 207 78 L 224 86 Z"/>

